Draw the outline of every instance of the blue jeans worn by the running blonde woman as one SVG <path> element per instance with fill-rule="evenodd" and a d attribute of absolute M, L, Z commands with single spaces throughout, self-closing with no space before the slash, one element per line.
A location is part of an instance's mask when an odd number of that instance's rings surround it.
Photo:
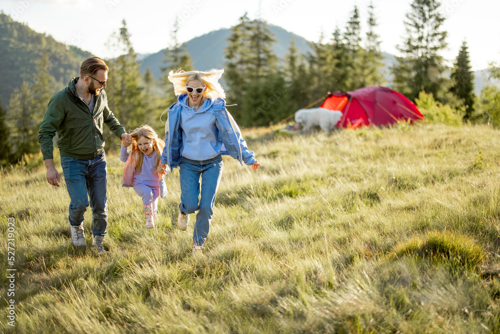
<path fill-rule="evenodd" d="M 220 155 L 203 161 L 180 158 L 179 209 L 187 214 L 198 211 L 192 236 L 193 244 L 197 246 L 205 242 L 210 229 L 215 194 L 222 176 L 222 165 Z M 201 195 L 199 201 L 198 195 Z"/>

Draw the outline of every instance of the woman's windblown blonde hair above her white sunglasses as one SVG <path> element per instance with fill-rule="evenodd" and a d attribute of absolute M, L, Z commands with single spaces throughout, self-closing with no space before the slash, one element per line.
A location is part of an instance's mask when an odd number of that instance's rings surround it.
<path fill-rule="evenodd" d="M 208 99 L 225 99 L 224 89 L 218 83 L 218 80 L 224 73 L 224 70 L 211 69 L 208 71 L 170 71 L 168 80 L 173 84 L 173 92 L 176 96 L 187 94 L 185 85 L 191 80 L 199 80 L 206 86 L 203 91 L 203 97 Z"/>

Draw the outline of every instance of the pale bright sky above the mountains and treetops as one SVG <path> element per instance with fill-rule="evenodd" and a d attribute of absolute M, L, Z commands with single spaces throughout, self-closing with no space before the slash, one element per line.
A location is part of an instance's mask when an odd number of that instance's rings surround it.
<path fill-rule="evenodd" d="M 125 20 L 137 53 L 156 53 L 172 46 L 171 32 L 177 18 L 179 42 L 214 30 L 230 28 L 248 13 L 308 41 L 330 39 L 336 27 L 344 31 L 354 6 L 360 13 L 361 33 L 366 33 L 367 6 L 373 1 L 381 51 L 400 56 L 405 14 L 410 0 L 0 0 L 0 10 L 15 21 L 56 41 L 101 58 L 114 55 L 109 37 Z M 442 30 L 448 47 L 441 56 L 452 65 L 462 42 L 467 43 L 472 70 L 500 63 L 500 1 L 442 0 Z M 199 69 L 205 70 L 205 69 Z"/>

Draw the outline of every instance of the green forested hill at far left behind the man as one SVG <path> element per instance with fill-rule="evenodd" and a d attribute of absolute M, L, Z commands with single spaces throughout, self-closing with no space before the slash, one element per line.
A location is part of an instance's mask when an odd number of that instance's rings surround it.
<path fill-rule="evenodd" d="M 0 13 L 0 99 L 3 106 L 8 104 L 14 88 L 20 87 L 23 81 L 32 81 L 36 64 L 44 53 L 48 54 L 49 73 L 56 82 L 54 90 L 64 87 L 69 78 L 78 74 L 82 60 L 91 56 L 89 52 L 36 33 Z"/>

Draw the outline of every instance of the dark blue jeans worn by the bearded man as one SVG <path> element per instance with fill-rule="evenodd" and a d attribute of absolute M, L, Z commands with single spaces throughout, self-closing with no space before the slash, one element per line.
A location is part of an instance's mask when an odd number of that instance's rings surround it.
<path fill-rule="evenodd" d="M 78 226 L 89 204 L 92 208 L 92 234 L 104 236 L 107 227 L 106 155 L 104 151 L 92 160 L 61 157 L 62 172 L 69 203 L 69 223 Z"/>

